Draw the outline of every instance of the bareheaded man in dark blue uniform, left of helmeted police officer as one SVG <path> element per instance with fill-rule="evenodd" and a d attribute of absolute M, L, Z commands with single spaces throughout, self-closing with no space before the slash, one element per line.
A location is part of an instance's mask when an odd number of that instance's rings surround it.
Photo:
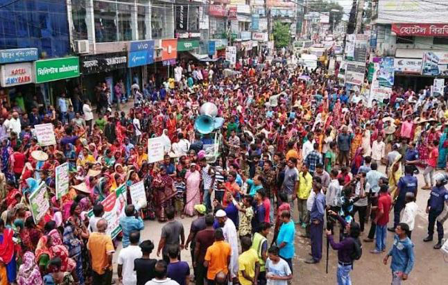
<path fill-rule="evenodd" d="M 395 232 L 395 227 L 397 227 L 399 223 L 399 214 L 404 209 L 406 205 L 405 197 L 406 193 L 411 192 L 414 194 L 414 197 L 417 197 L 417 178 L 413 175 L 414 169 L 413 165 L 404 166 L 404 176 L 399 178 L 397 188 L 398 188 L 398 196 L 397 200 L 395 200 L 394 206 L 394 222 L 393 227 L 388 227 L 389 232 Z"/>

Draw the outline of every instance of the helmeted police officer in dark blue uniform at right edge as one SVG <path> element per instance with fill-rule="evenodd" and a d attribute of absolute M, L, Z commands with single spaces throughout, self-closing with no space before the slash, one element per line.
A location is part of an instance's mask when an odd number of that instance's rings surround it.
<path fill-rule="evenodd" d="M 429 214 L 429 223 L 428 236 L 423 240 L 425 242 L 433 240 L 436 218 L 442 213 L 443 208 L 445 207 L 445 202 L 448 201 L 448 191 L 445 189 L 445 184 L 448 182 L 448 175 L 438 173 L 434 175 L 434 180 L 436 180 L 436 186 L 433 187 L 428 199 L 427 213 Z M 438 243 L 434 245 L 434 249 L 436 250 L 442 247 L 443 238 L 443 225 L 439 221 L 437 221 L 437 234 Z"/>

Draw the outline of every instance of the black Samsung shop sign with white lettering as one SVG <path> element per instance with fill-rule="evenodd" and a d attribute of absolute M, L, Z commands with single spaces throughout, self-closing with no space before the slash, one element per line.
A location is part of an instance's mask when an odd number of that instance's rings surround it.
<path fill-rule="evenodd" d="M 126 52 L 86 55 L 80 58 L 81 74 L 97 74 L 128 67 Z"/>

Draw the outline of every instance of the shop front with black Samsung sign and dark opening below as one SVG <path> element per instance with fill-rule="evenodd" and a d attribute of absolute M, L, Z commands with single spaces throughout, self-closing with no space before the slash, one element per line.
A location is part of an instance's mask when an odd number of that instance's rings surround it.
<path fill-rule="evenodd" d="M 97 55 L 85 55 L 80 58 L 80 71 L 83 94 L 96 105 L 98 98 L 94 92 L 96 85 L 105 82 L 111 90 L 111 103 L 114 99 L 114 85 L 123 79 L 126 89 L 130 89 L 128 83 L 128 57 L 126 52 L 103 53 Z"/>

